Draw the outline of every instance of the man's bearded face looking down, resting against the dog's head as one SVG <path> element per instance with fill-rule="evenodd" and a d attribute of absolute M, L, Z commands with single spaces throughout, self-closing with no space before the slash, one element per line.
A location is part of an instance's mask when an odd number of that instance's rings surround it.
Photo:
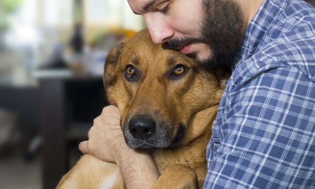
<path fill-rule="evenodd" d="M 128 0 L 144 17 L 154 43 L 167 42 L 196 63 L 228 63 L 244 35 L 241 9 L 233 0 Z"/>

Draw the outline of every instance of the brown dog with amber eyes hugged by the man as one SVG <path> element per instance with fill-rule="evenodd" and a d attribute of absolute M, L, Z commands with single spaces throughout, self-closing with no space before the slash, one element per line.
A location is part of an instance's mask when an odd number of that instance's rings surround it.
<path fill-rule="evenodd" d="M 179 51 L 152 43 L 147 30 L 114 48 L 105 63 L 110 104 L 121 112 L 127 145 L 149 151 L 161 173 L 153 188 L 199 188 L 205 148 L 230 76 L 205 69 Z M 58 189 L 125 188 L 114 163 L 81 157 Z"/>

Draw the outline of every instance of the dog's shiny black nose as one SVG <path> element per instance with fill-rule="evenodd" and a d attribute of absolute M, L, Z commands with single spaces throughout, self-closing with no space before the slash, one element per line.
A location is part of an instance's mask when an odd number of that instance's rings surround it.
<path fill-rule="evenodd" d="M 147 139 L 156 131 L 157 123 L 151 116 L 140 115 L 130 119 L 129 132 L 137 139 Z"/>

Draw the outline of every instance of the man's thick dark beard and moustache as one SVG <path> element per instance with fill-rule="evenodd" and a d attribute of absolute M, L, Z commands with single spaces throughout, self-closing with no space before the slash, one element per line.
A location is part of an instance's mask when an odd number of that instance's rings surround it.
<path fill-rule="evenodd" d="M 240 6 L 233 0 L 203 0 L 204 18 L 200 25 L 200 36 L 196 38 L 172 38 L 169 48 L 178 48 L 189 43 L 205 43 L 211 54 L 200 60 L 196 53 L 189 54 L 198 65 L 212 68 L 228 65 L 240 46 L 245 22 Z"/>

